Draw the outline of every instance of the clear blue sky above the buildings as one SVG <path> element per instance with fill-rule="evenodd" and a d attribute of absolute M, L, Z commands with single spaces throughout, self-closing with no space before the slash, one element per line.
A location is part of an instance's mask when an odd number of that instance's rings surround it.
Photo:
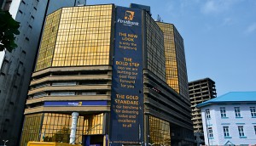
<path fill-rule="evenodd" d="M 151 7 L 183 36 L 189 81 L 209 77 L 217 96 L 256 91 L 256 0 L 87 0 Z M 3 53 L 0 54 L 0 61 Z"/>

